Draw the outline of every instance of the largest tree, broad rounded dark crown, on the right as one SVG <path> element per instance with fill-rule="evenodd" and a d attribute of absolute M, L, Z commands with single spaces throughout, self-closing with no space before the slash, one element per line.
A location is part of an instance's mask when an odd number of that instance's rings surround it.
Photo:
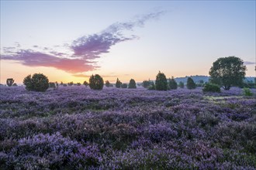
<path fill-rule="evenodd" d="M 239 86 L 243 83 L 246 66 L 242 59 L 236 56 L 228 56 L 217 59 L 209 70 L 210 82 L 230 90 L 231 86 Z"/>

